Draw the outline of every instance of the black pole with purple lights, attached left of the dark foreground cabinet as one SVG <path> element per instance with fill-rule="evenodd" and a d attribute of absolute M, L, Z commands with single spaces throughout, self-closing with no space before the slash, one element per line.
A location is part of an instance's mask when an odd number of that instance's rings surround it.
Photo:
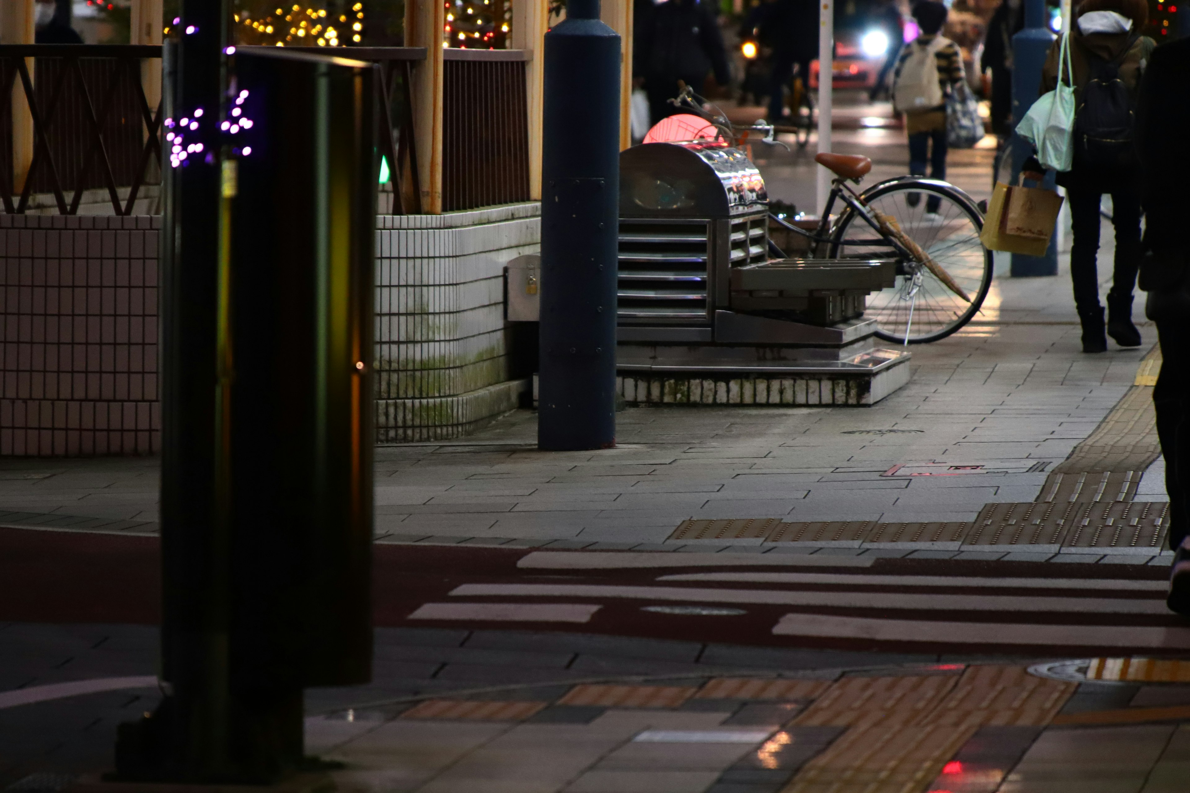
<path fill-rule="evenodd" d="M 220 461 L 219 265 L 226 0 L 183 0 L 170 46 L 165 113 L 203 152 L 165 168 L 162 220 L 162 553 L 163 679 L 170 712 L 159 715 L 170 745 L 161 760 L 182 779 L 230 775 L 227 756 L 228 527 L 217 492 Z M 167 20 L 173 23 L 174 20 Z M 201 113 L 201 115 L 199 115 Z M 195 118 L 198 117 L 198 118 Z M 168 152 L 168 149 L 167 149 Z"/>

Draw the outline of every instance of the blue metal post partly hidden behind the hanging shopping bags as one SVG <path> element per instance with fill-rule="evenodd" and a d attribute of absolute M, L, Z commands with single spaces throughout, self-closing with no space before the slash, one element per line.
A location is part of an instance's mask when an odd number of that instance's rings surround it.
<path fill-rule="evenodd" d="M 1013 124 L 1016 124 L 1033 107 L 1040 95 L 1041 68 L 1045 65 L 1053 33 L 1046 27 L 1045 0 L 1023 0 L 1025 29 L 1013 37 Z M 1013 136 L 1009 155 L 1013 163 L 1013 180 L 1021 172 L 1021 165 L 1032 153 L 1029 145 Z M 1056 187 L 1053 175 L 1046 176 L 1045 187 Z M 1045 256 L 1013 253 L 1013 276 L 1058 275 L 1057 234 L 1050 239 Z"/>

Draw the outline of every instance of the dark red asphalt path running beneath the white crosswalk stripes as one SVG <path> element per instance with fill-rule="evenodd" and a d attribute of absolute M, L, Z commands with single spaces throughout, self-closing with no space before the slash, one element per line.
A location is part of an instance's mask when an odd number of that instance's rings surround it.
<path fill-rule="evenodd" d="M 534 553 L 531 549 L 501 549 L 484 547 L 376 545 L 374 550 L 374 621 L 380 627 L 425 625 L 450 628 L 519 628 L 533 630 L 564 630 L 576 632 L 613 634 L 621 636 L 650 636 L 702 642 L 729 642 L 735 644 L 768 644 L 781 647 L 835 647 L 847 649 L 954 652 L 957 648 L 940 631 L 941 624 L 933 624 L 933 632 L 925 630 L 921 640 L 895 641 L 888 637 L 857 635 L 846 636 L 790 636 L 775 635 L 774 627 L 782 618 L 816 615 L 825 624 L 863 619 L 904 621 L 901 625 L 916 624 L 929 628 L 932 623 L 988 625 L 984 642 L 967 641 L 964 652 L 1014 652 L 1033 654 L 1044 649 L 1061 650 L 1069 655 L 1079 650 L 1102 649 L 1119 654 L 1127 650 L 1115 643 L 1096 647 L 1077 638 L 1079 627 L 1090 627 L 1106 635 L 1104 630 L 1128 628 L 1172 629 L 1173 634 L 1190 634 L 1188 623 L 1159 608 L 1163 593 L 1159 585 L 1145 585 L 1136 591 L 1097 591 L 1102 580 L 1104 590 L 1109 579 L 1159 581 L 1166 571 L 1159 567 L 1120 565 L 1054 565 L 1036 562 L 985 562 L 952 560 L 882 559 L 868 568 L 823 567 L 802 568 L 787 564 L 774 566 L 749 566 L 747 568 L 691 565 L 689 567 L 664 568 L 610 568 L 610 569 L 525 569 L 516 562 Z M 161 575 L 159 542 L 156 537 L 118 536 L 87 533 L 0 529 L 0 619 L 39 623 L 139 623 L 156 624 L 159 621 Z M 537 552 L 538 558 L 543 552 Z M 658 554 L 674 564 L 674 554 Z M 726 561 L 726 560 L 725 560 Z M 758 561 L 758 560 L 757 560 Z M 838 573 L 846 577 L 840 583 L 749 583 L 714 580 L 658 580 L 682 573 L 743 572 L 790 573 L 813 572 Z M 864 580 L 865 575 L 881 575 L 881 581 Z M 912 578 L 904 584 L 890 583 L 887 577 L 945 575 L 954 577 L 956 586 L 921 585 Z M 972 587 L 972 580 L 988 577 L 1020 577 L 1038 580 L 1038 586 L 1013 585 L 1009 587 Z M 1041 586 L 1040 579 L 1077 579 L 1077 586 L 1054 589 Z M 965 584 L 959 584 L 960 579 Z M 496 585 L 494 592 L 475 594 L 461 593 L 464 585 Z M 532 585 L 534 591 L 525 594 L 501 592 L 508 585 Z M 576 593 L 576 585 L 585 587 L 633 587 L 624 597 L 606 594 L 613 590 L 590 590 Z M 675 597 L 675 587 L 689 587 L 691 598 Z M 490 589 L 490 587 L 489 587 Z M 650 589 L 654 596 L 650 597 Z M 668 594 L 663 596 L 663 590 Z M 760 592 L 756 592 L 759 590 Z M 724 592 L 718 600 L 716 592 Z M 455 592 L 455 594 L 452 594 Z M 763 592 L 821 593 L 825 603 L 816 605 L 790 605 L 766 603 Z M 831 594 L 834 593 L 834 594 Z M 484 596 L 486 594 L 486 596 Z M 837 605 L 835 598 L 868 598 L 879 602 L 881 597 L 926 596 L 947 597 L 1022 597 L 1036 602 L 1077 603 L 1085 599 L 1109 598 L 1130 610 L 1139 602 L 1141 613 L 1108 613 L 1081 610 L 1077 605 L 1063 612 L 1054 608 L 1032 610 L 1031 606 L 1010 611 L 995 609 L 931 608 L 872 608 Z M 759 597 L 758 597 L 759 596 Z M 814 597 L 806 596 L 802 597 Z M 740 599 L 743 598 L 743 600 Z M 759 603 L 751 603 L 759 599 Z M 1057 598 L 1057 599 L 1053 599 Z M 906 598 L 912 599 L 912 598 Z M 938 600 L 932 600 L 937 603 Z M 474 619 L 409 619 L 409 615 L 427 603 L 437 604 L 590 604 L 601 606 L 589 622 L 551 623 L 520 621 Z M 1028 602 L 1028 603 L 1032 603 Z M 644 606 L 727 606 L 745 613 L 732 616 L 699 616 L 656 613 L 643 611 Z M 892 604 L 897 605 L 897 604 Z M 904 605 L 904 604 L 902 604 Z M 515 611 L 515 609 L 513 609 Z M 1146 611 L 1147 610 L 1147 611 Z M 813 617 L 812 617 L 813 618 Z M 996 625 L 1004 624 L 1054 625 L 1069 632 L 1053 648 L 1021 646 L 997 637 Z M 978 628 L 976 628 L 978 630 Z M 1075 636 L 1075 638 L 1070 638 Z M 1183 640 L 1177 640 L 1183 641 Z M 1163 647 L 1140 646 L 1136 650 L 1163 652 Z M 1171 647 L 1170 649 L 1177 649 Z M 1182 648 L 1185 652 L 1185 648 Z"/>

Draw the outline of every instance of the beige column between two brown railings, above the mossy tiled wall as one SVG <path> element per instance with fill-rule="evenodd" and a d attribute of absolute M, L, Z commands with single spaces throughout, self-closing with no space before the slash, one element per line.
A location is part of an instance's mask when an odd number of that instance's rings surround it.
<path fill-rule="evenodd" d="M 418 147 L 418 178 L 421 184 L 421 212 L 428 215 L 438 215 L 443 210 L 443 26 L 445 24 L 446 7 L 441 0 L 406 0 L 405 44 L 426 48 L 426 59 L 413 68 L 411 88 L 413 138 Z"/>

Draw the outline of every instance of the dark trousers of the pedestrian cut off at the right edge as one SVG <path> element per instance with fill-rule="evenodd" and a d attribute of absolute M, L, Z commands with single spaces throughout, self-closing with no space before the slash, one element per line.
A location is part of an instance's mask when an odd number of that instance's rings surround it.
<path fill-rule="evenodd" d="M 1165 490 L 1170 495 L 1170 548 L 1186 536 L 1190 520 L 1190 315 L 1157 320 L 1161 371 L 1153 389 L 1157 435 L 1165 455 Z"/>

